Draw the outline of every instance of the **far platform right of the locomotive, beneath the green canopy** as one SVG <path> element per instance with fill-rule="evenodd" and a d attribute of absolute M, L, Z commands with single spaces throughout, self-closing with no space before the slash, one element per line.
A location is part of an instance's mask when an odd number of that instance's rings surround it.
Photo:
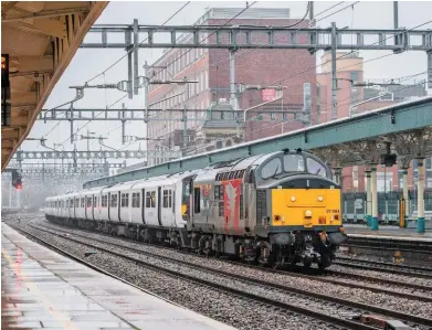
<path fill-rule="evenodd" d="M 366 224 L 344 224 L 345 233 L 349 237 L 371 237 L 401 241 L 423 241 L 432 243 L 432 230 L 424 233 L 417 233 L 415 228 L 400 228 L 397 226 L 380 226 L 378 231 L 372 231 Z"/>

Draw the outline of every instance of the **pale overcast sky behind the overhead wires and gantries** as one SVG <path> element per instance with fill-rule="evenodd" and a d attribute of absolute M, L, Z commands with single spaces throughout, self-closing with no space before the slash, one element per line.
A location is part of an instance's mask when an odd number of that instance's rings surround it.
<path fill-rule="evenodd" d="M 249 1 L 252 3 L 253 1 Z M 338 2 L 316 1 L 315 13 L 318 13 Z M 180 7 L 185 4 L 185 1 L 143 1 L 143 2 L 127 2 L 127 1 L 112 1 L 105 11 L 102 13 L 96 24 L 131 24 L 134 19 L 138 19 L 139 24 L 162 24 L 172 13 L 175 13 Z M 345 3 L 336 7 L 334 10 L 327 12 L 331 13 L 346 6 L 354 4 L 341 12 L 338 12 L 327 19 L 324 19 L 318 23 L 320 28 L 327 28 L 331 22 L 336 22 L 338 28 L 349 26 L 356 29 L 392 29 L 393 28 L 393 4 L 391 1 L 361 1 L 359 3 L 346 1 Z M 256 2 L 254 8 L 289 8 L 291 18 L 301 18 L 306 11 L 306 1 L 260 1 Z M 243 8 L 245 2 L 230 1 L 230 2 L 202 2 L 192 1 L 185 10 L 176 15 L 168 24 L 191 24 L 196 22 L 209 7 L 234 7 Z M 399 1 L 399 25 L 408 29 L 424 23 L 432 18 L 432 2 L 417 2 L 417 1 Z M 326 15 L 324 14 L 324 15 Z M 432 29 L 432 23 L 429 23 L 420 29 Z M 144 36 L 140 36 L 143 40 Z M 372 43 L 373 41 L 369 42 Z M 368 43 L 365 40 L 365 43 Z M 162 50 L 139 50 L 139 74 L 144 74 L 143 64 L 147 60 L 149 63 L 156 61 Z M 360 55 L 368 61 L 370 58 L 388 54 L 389 52 L 361 52 Z M 70 89 L 72 85 L 83 85 L 85 81 L 94 75 L 103 72 L 122 55 L 123 50 L 78 50 L 75 57 L 72 60 L 70 66 L 56 84 L 44 108 L 52 108 L 74 98 L 74 89 Z M 226 52 L 226 57 L 229 53 Z M 110 68 L 105 74 L 106 83 L 116 83 L 122 79 L 127 79 L 127 61 L 124 58 L 116 66 Z M 423 52 L 405 52 L 399 55 L 392 55 L 382 60 L 372 61 L 365 64 L 365 76 L 371 79 L 388 79 L 393 77 L 401 77 L 411 74 L 417 74 L 426 71 L 426 55 Z M 426 75 L 419 76 L 418 78 L 426 78 Z M 93 84 L 103 84 L 104 78 L 99 77 L 92 82 Z M 110 105 L 123 96 L 122 92 L 117 91 L 95 91 L 86 89 L 85 96 L 82 100 L 75 104 L 75 108 L 93 107 L 104 108 L 106 104 Z M 134 99 L 125 98 L 123 100 L 126 107 L 143 107 L 144 97 L 143 89 L 140 94 L 135 96 Z M 119 103 L 115 108 L 119 108 Z M 83 126 L 86 121 L 76 121 L 75 130 L 77 127 Z M 40 138 L 46 135 L 56 123 L 49 121 L 43 124 L 39 121 L 33 127 L 30 137 Z M 115 129 L 117 128 L 118 129 Z M 127 135 L 144 136 L 144 124 L 141 123 L 128 123 L 126 126 Z M 102 135 L 108 139 L 106 145 L 120 148 L 120 128 L 117 121 L 94 121 L 86 126 L 81 134 L 86 134 L 86 129 L 96 132 L 97 136 Z M 108 135 L 109 132 L 109 135 Z M 53 143 L 62 143 L 70 136 L 70 124 L 62 121 L 57 125 L 48 136 L 46 145 L 52 147 Z M 86 141 L 76 142 L 78 150 L 86 149 Z M 138 143 L 135 143 L 128 149 L 138 149 Z M 141 148 L 144 145 L 141 146 Z M 25 141 L 22 145 L 23 150 L 46 150 L 39 146 L 35 141 Z M 72 150 L 73 146 L 70 141 L 64 143 L 65 150 Z M 99 149 L 97 141 L 91 142 L 91 149 Z M 134 163 L 135 161 L 128 161 Z"/>

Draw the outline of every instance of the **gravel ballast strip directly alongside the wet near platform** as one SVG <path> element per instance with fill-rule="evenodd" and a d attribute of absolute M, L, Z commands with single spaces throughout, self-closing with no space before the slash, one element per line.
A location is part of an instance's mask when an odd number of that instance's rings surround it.
<path fill-rule="evenodd" d="M 76 256 L 83 256 L 88 251 L 81 244 L 42 233 L 24 223 L 14 224 Z M 167 276 L 107 253 L 98 252 L 86 260 L 156 295 L 239 329 L 341 329 L 306 316 L 267 308 L 262 304 Z"/>

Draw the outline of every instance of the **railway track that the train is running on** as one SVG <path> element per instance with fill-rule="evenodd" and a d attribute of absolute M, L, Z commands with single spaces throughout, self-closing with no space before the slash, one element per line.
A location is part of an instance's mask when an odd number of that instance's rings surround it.
<path fill-rule="evenodd" d="M 49 224 L 55 226 L 56 231 L 62 231 L 64 233 L 67 233 L 67 231 L 59 230 L 59 227 L 67 228 L 69 231 L 72 231 L 74 233 L 74 235 L 77 235 L 77 236 L 83 236 L 82 234 L 80 234 L 80 232 L 86 232 L 92 235 L 109 237 L 109 239 L 118 239 L 119 242 L 133 242 L 134 244 L 138 244 L 138 242 L 131 241 L 126 237 L 118 237 L 118 236 L 113 237 L 110 235 L 99 233 L 99 232 L 87 231 L 87 230 L 76 230 L 76 228 L 65 226 L 65 225 L 59 225 L 59 224 L 53 224 L 53 223 L 49 223 Z M 38 225 L 46 227 L 49 230 L 54 230 L 53 227 L 46 226 L 45 224 L 38 223 Z M 86 236 L 84 236 L 84 237 L 86 237 Z M 97 239 L 97 238 L 94 237 L 94 239 Z M 106 241 L 104 241 L 104 242 L 107 243 Z M 109 242 L 109 244 L 116 244 L 116 243 Z M 165 251 L 172 252 L 172 248 L 164 247 L 160 245 L 144 244 L 144 243 L 139 243 L 139 245 L 140 245 L 140 247 L 149 245 L 149 246 L 156 247 L 158 249 L 165 249 Z M 141 249 L 139 249 L 139 251 L 143 252 Z M 193 257 L 207 258 L 207 256 L 197 255 L 196 253 L 190 253 L 188 251 L 178 251 L 178 253 L 191 255 Z M 333 269 L 326 269 L 325 272 L 323 272 L 317 268 L 309 268 L 309 269 L 305 270 L 304 267 L 294 267 L 291 272 L 288 272 L 288 270 L 275 270 L 275 269 L 271 269 L 271 268 L 264 268 L 264 267 L 255 266 L 255 265 L 247 265 L 247 264 L 244 264 L 241 262 L 233 262 L 233 260 L 228 260 L 228 259 L 224 259 L 223 262 L 229 263 L 231 265 L 238 265 L 238 266 L 243 266 L 243 267 L 247 267 L 251 269 L 257 269 L 260 272 L 267 272 L 270 274 L 280 274 L 280 275 L 292 276 L 292 277 L 302 276 L 303 278 L 307 278 L 310 280 L 319 280 L 322 283 L 327 283 L 327 284 L 334 284 L 334 285 L 344 284 L 345 286 L 351 287 L 351 288 L 358 288 L 358 289 L 366 288 L 366 289 L 369 289 L 373 292 L 382 292 L 382 294 L 387 294 L 387 295 L 391 295 L 391 296 L 396 296 L 396 297 L 401 297 L 401 298 L 418 299 L 418 300 L 425 301 L 425 302 L 432 301 L 432 296 L 430 296 L 430 295 L 432 295 L 432 287 L 418 285 L 418 284 L 411 284 L 411 283 L 407 283 L 407 281 L 399 281 L 399 280 L 393 280 L 393 279 L 388 279 L 388 278 L 377 278 L 377 277 L 372 277 L 372 276 L 344 273 L 340 270 L 333 270 Z M 305 272 L 307 272 L 308 274 L 305 274 Z M 329 276 L 324 276 L 324 275 L 329 275 Z M 414 274 L 409 274 L 409 276 L 413 276 L 413 275 Z M 331 276 L 331 278 L 330 278 L 330 276 Z M 341 283 L 340 279 L 349 279 L 349 280 L 356 280 L 356 281 Z M 379 287 L 365 286 L 365 284 L 358 284 L 357 281 L 368 281 L 368 283 L 371 283 L 375 285 L 379 285 Z M 382 288 L 382 286 L 390 286 L 390 288 L 386 289 L 386 288 Z M 414 290 L 419 290 L 420 292 L 425 292 L 425 294 L 428 294 L 428 296 L 403 294 L 403 292 L 394 291 L 394 288 L 391 288 L 391 287 L 401 287 L 401 288 L 407 288 L 410 290 L 414 289 Z"/>

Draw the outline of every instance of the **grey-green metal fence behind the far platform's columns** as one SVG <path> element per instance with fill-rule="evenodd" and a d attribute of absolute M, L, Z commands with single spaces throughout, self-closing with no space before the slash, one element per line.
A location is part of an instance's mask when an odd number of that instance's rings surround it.
<path fill-rule="evenodd" d="M 378 219 L 380 222 L 394 223 L 399 221 L 399 200 L 402 191 L 378 193 Z M 417 219 L 418 191 L 409 191 L 409 219 Z M 343 194 L 343 217 L 347 223 L 362 223 L 366 219 L 366 193 L 347 192 Z M 432 220 L 432 189 L 424 191 L 424 213 L 426 220 Z"/>

